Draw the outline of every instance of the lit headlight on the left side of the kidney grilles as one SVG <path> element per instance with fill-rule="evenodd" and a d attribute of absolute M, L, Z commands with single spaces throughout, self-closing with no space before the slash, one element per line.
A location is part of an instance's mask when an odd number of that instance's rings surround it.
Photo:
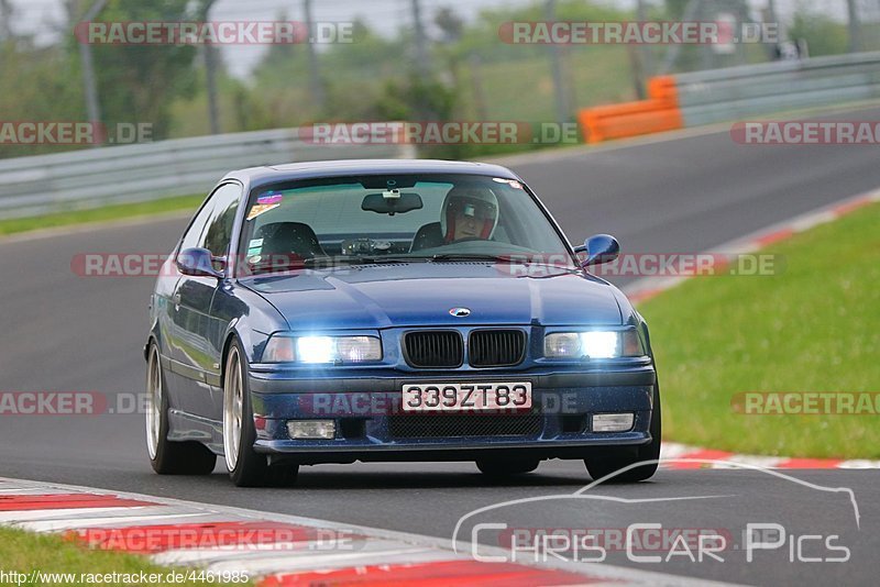
<path fill-rule="evenodd" d="M 266 343 L 263 363 L 365 363 L 382 359 L 375 336 L 286 336 Z"/>

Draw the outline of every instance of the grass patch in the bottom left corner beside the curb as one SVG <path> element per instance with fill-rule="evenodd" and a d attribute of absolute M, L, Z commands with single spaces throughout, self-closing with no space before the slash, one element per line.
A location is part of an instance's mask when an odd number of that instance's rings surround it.
<path fill-rule="evenodd" d="M 188 573 L 189 569 L 163 567 L 150 563 L 142 556 L 112 551 L 89 550 L 81 544 L 63 539 L 57 534 L 36 534 L 12 528 L 0 528 L 0 563 L 7 574 L 0 583 L 3 585 L 85 585 L 90 582 L 85 575 L 101 575 L 102 585 L 133 585 L 136 580 L 127 582 L 124 575 L 141 576 L 155 574 L 158 582 L 150 580 L 144 585 L 253 585 L 252 583 L 212 583 L 199 580 L 198 573 L 190 580 L 176 582 L 168 574 Z M 11 572 L 29 575 L 28 578 L 15 579 Z M 31 575 L 34 572 L 40 577 Z M 117 575 L 113 576 L 112 574 Z M 55 575 L 55 576 L 53 576 Z M 109 575 L 109 577 L 108 577 Z M 123 575 L 123 576 L 121 576 Z M 33 580 L 36 578 L 36 580 Z M 178 577 L 179 578 L 179 577 Z M 170 579 L 170 580 L 169 580 Z"/>

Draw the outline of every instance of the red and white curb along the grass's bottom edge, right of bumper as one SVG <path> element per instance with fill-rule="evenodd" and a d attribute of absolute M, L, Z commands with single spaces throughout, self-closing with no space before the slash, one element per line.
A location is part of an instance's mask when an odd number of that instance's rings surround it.
<path fill-rule="evenodd" d="M 747 465 L 761 468 L 785 469 L 877 469 L 880 461 L 853 458 L 793 458 L 788 456 L 758 456 L 700 448 L 664 442 L 660 447 L 661 466 L 672 469 L 693 468 L 737 468 L 736 465 Z M 690 462 L 689 462 L 690 461 Z"/>

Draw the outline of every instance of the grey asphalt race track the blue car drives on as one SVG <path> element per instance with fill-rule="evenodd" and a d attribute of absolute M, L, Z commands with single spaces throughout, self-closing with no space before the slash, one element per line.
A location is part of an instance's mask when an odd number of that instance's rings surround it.
<path fill-rule="evenodd" d="M 842 119 L 880 120 L 880 110 Z M 607 232 L 627 252 L 700 252 L 799 213 L 880 186 L 870 146 L 745 146 L 717 132 L 594 152 L 517 158 L 510 165 L 538 191 L 573 242 Z M 0 390 L 143 390 L 141 347 L 151 278 L 84 278 L 70 269 L 77 253 L 167 253 L 184 220 L 95 228 L 0 242 Z M 845 262 L 845 259 L 842 259 Z M 650 322 L 650 317 L 646 317 Z M 662 344 L 658 341 L 657 344 Z M 661 376 L 662 376 L 662 365 Z M 674 394 L 674 389 L 664 389 Z M 128 406 L 122 406 L 127 408 Z M 510 499 L 571 495 L 587 481 L 583 465 L 548 462 L 518 483 L 493 484 L 472 464 L 355 464 L 304 467 L 292 489 L 237 489 L 223 467 L 209 478 L 160 477 L 144 450 L 140 413 L 1 416 L 0 476 L 176 497 L 352 524 L 452 538 L 459 518 Z M 603 528 L 635 522 L 666 529 L 719 530 L 732 536 L 725 562 L 634 562 L 612 547 L 606 562 L 639 571 L 771 585 L 831 582 L 875 584 L 880 549 L 880 473 L 789 472 L 798 484 L 757 470 L 661 470 L 649 484 L 608 486 L 590 495 L 670 501 L 558 498 L 499 508 L 469 519 L 510 528 Z M 817 486 L 851 488 L 849 497 Z M 703 499 L 681 499 L 702 497 Z M 746 561 L 746 523 L 780 523 L 784 546 Z M 792 536 L 818 534 L 850 550 L 846 563 L 799 560 Z M 460 536 L 462 538 L 462 536 Z M 497 544 L 497 536 L 480 540 Z M 824 540 L 823 538 L 823 540 Z M 835 542 L 837 540 L 837 542 Z M 834 557 L 804 540 L 803 556 Z M 791 550 L 793 549 L 793 550 Z M 666 556 L 669 549 L 660 553 Z M 794 552 L 794 554 L 792 554 Z M 639 552 L 638 554 L 657 554 Z"/>

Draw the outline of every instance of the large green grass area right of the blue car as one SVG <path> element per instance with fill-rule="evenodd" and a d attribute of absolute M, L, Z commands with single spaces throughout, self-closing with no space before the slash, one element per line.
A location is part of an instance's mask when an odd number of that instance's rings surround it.
<path fill-rule="evenodd" d="M 756 416 L 732 406 L 743 392 L 880 392 L 878 226 L 872 204 L 762 251 L 781 256 L 779 275 L 694 278 L 640 304 L 664 436 L 749 454 L 880 457 L 879 413 Z"/>

